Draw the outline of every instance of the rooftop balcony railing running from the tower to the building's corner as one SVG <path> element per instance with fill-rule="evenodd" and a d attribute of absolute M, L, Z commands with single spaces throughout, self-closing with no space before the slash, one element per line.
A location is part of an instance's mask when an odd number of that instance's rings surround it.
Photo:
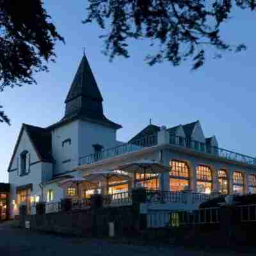
<path fill-rule="evenodd" d="M 79 164 L 92 164 L 98 161 L 109 159 L 115 156 L 122 156 L 127 153 L 135 152 L 141 148 L 151 147 L 157 144 L 157 134 L 133 140 L 131 143 L 125 143 L 118 147 L 108 148 L 99 153 L 90 154 L 88 156 L 80 157 Z"/>

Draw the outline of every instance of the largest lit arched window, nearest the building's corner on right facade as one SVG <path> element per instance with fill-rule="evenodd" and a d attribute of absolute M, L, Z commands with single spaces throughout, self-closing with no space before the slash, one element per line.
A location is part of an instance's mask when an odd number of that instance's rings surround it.
<path fill-rule="evenodd" d="M 189 189 L 189 167 L 183 161 L 173 160 L 170 163 L 170 191 L 183 191 Z"/>

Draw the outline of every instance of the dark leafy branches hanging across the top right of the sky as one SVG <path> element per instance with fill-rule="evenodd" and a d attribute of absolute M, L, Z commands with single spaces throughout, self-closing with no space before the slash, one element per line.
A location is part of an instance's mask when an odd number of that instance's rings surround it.
<path fill-rule="evenodd" d="M 149 65 L 171 61 L 174 66 L 191 58 L 193 70 L 205 63 L 206 49 L 212 48 L 214 58 L 222 52 L 239 52 L 244 44 L 233 46 L 221 39 L 220 26 L 230 19 L 235 6 L 255 10 L 255 0 L 88 0 L 88 17 L 110 32 L 105 38 L 106 54 L 129 57 L 130 38 L 159 43 L 159 51 L 146 57 Z"/>

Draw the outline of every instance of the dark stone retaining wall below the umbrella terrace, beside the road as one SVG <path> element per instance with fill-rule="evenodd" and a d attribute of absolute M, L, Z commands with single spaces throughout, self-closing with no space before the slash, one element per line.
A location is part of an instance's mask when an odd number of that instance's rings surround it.
<path fill-rule="evenodd" d="M 20 216 L 20 226 L 25 228 L 30 221 L 31 230 L 69 234 L 77 236 L 108 236 L 108 223 L 115 223 L 115 235 L 129 235 L 136 232 L 132 206 L 56 212 L 43 215 Z"/>

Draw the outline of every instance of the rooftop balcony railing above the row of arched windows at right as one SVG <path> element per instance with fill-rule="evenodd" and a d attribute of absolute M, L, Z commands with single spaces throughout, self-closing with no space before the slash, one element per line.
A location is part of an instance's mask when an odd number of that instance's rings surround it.
<path fill-rule="evenodd" d="M 256 158 L 239 154 L 227 149 L 212 147 L 205 143 L 200 143 L 199 141 L 188 140 L 180 136 L 175 136 L 170 134 L 170 144 L 179 147 L 189 148 L 195 150 L 196 152 L 201 152 L 205 154 L 210 154 L 212 156 L 218 156 L 232 161 L 238 161 L 245 164 L 256 164 Z"/>

